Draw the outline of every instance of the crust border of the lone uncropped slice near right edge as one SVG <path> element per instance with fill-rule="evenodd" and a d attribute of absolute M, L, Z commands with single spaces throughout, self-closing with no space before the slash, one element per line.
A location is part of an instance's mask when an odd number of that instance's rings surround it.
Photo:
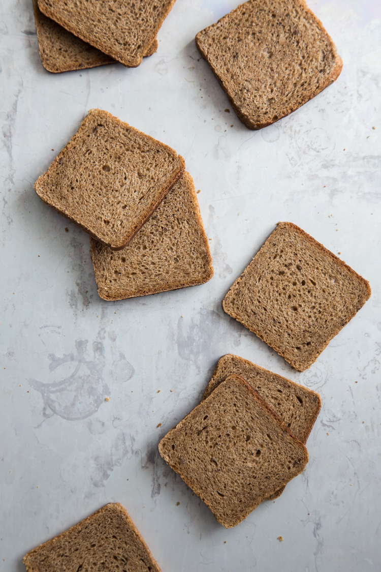
<path fill-rule="evenodd" d="M 292 367 L 294 367 L 295 370 L 304 371 L 307 368 L 309 368 L 312 363 L 315 362 L 315 360 L 318 358 L 320 353 L 322 353 L 322 351 L 327 347 L 328 343 L 330 343 L 332 338 L 334 338 L 339 333 L 339 331 L 352 319 L 352 317 L 354 317 L 356 315 L 356 313 L 359 311 L 359 309 L 362 308 L 362 306 L 364 305 L 366 300 L 368 300 L 370 295 L 371 295 L 371 289 L 370 289 L 370 285 L 369 285 L 367 280 L 365 280 L 362 276 L 360 276 L 358 273 L 356 273 L 351 267 L 349 267 L 346 263 L 344 263 L 342 260 L 340 260 L 332 252 L 328 251 L 327 248 L 325 248 L 322 244 L 318 243 L 318 241 L 316 241 L 314 238 L 312 238 L 310 235 L 308 235 L 306 232 L 304 232 L 301 228 L 297 227 L 293 223 L 278 223 L 276 229 L 282 229 L 282 228 L 292 229 L 298 235 L 303 237 L 303 239 L 307 240 L 308 243 L 310 243 L 312 245 L 312 247 L 317 248 L 318 251 L 320 251 L 324 255 L 324 257 L 328 257 L 328 259 L 333 261 L 337 267 L 342 268 L 347 273 L 349 273 L 349 275 L 354 279 L 354 281 L 356 281 L 357 284 L 360 284 L 364 288 L 364 291 L 365 291 L 362 303 L 359 305 L 359 307 L 352 307 L 351 308 L 351 311 L 348 314 L 348 318 L 346 319 L 346 321 L 344 321 L 338 329 L 335 328 L 332 331 L 331 335 L 327 336 L 326 341 L 324 343 L 320 342 L 319 348 L 315 349 L 315 353 L 310 354 L 310 358 L 308 359 L 308 361 L 304 360 L 303 363 L 298 363 L 298 362 L 296 362 L 296 360 L 291 359 L 290 356 L 287 354 L 288 348 L 286 350 L 282 350 L 282 348 L 279 347 L 279 345 L 274 341 L 274 339 L 271 338 L 270 335 L 267 334 L 267 332 L 264 332 L 263 329 L 259 329 L 258 327 L 255 327 L 253 324 L 251 324 L 248 321 L 247 317 L 245 317 L 244 315 L 238 314 L 229 305 L 230 304 L 230 298 L 233 296 L 233 292 L 239 291 L 240 281 L 246 277 L 246 274 L 248 272 L 248 268 L 251 267 L 251 265 L 256 264 L 256 263 L 258 263 L 258 261 L 260 261 L 261 252 L 263 252 L 262 249 L 266 245 L 267 240 L 270 240 L 271 235 L 272 235 L 272 233 L 271 233 L 270 237 L 268 237 L 268 239 L 266 240 L 266 243 L 264 243 L 262 248 L 260 248 L 260 250 L 256 253 L 254 259 L 252 259 L 251 263 L 246 267 L 246 269 L 244 269 L 244 271 L 242 272 L 240 277 L 235 281 L 235 283 L 231 286 L 230 290 L 227 292 L 226 296 L 224 297 L 224 299 L 222 301 L 222 307 L 228 315 L 230 315 L 231 317 L 234 317 L 241 324 L 243 324 L 246 328 L 250 329 L 251 332 L 255 333 L 255 335 L 258 336 L 261 340 L 263 340 L 266 344 L 270 345 L 270 347 L 275 349 L 275 351 L 277 353 L 279 353 L 279 355 L 282 356 L 286 360 L 286 362 L 290 363 L 290 365 Z"/>

